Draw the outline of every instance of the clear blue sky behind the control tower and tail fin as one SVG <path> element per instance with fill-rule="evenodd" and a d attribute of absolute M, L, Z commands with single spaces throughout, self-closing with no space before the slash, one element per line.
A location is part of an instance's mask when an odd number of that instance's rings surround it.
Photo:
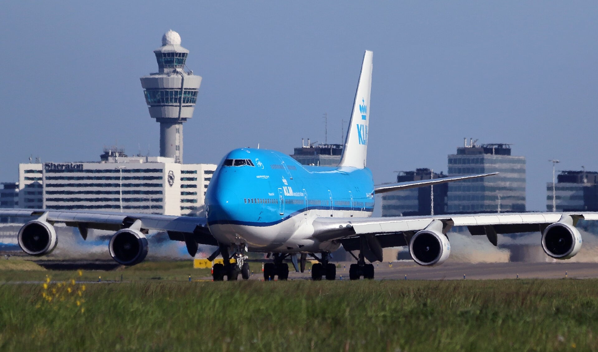
<path fill-rule="evenodd" d="M 364 50 L 374 51 L 368 166 L 447 170 L 463 137 L 527 158 L 527 209 L 549 159 L 598 170 L 597 2 L 29 2 L 0 10 L 0 181 L 17 164 L 157 155 L 139 77 L 168 29 L 203 76 L 185 163 L 241 146 L 339 143 Z M 346 123 L 345 123 L 346 126 Z"/>

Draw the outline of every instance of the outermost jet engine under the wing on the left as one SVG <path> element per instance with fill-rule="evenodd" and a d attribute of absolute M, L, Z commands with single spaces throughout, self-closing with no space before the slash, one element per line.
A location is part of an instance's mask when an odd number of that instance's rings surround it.
<path fill-rule="evenodd" d="M 19 230 L 19 247 L 28 255 L 46 255 L 56 248 L 58 239 L 54 226 L 41 220 L 33 220 Z"/>

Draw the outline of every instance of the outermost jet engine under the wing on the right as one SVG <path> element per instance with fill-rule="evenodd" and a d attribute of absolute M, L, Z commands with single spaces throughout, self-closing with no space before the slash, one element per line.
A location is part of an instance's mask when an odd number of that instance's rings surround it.
<path fill-rule="evenodd" d="M 555 259 L 569 259 L 581 249 L 581 234 L 578 229 L 563 222 L 548 225 L 542 232 L 542 249 Z"/>

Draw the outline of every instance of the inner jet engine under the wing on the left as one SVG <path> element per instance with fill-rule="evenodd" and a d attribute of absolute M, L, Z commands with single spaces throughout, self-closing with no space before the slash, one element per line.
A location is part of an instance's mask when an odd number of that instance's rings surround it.
<path fill-rule="evenodd" d="M 121 229 L 110 239 L 108 250 L 118 264 L 135 265 L 148 255 L 148 240 L 136 229 Z"/>

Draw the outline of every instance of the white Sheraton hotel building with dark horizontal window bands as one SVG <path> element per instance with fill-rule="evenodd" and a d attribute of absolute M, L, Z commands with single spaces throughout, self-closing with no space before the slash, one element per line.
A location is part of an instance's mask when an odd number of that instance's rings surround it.
<path fill-rule="evenodd" d="M 19 164 L 19 201 L 30 209 L 203 215 L 213 164 L 128 157 L 106 149 L 100 162 Z"/>

